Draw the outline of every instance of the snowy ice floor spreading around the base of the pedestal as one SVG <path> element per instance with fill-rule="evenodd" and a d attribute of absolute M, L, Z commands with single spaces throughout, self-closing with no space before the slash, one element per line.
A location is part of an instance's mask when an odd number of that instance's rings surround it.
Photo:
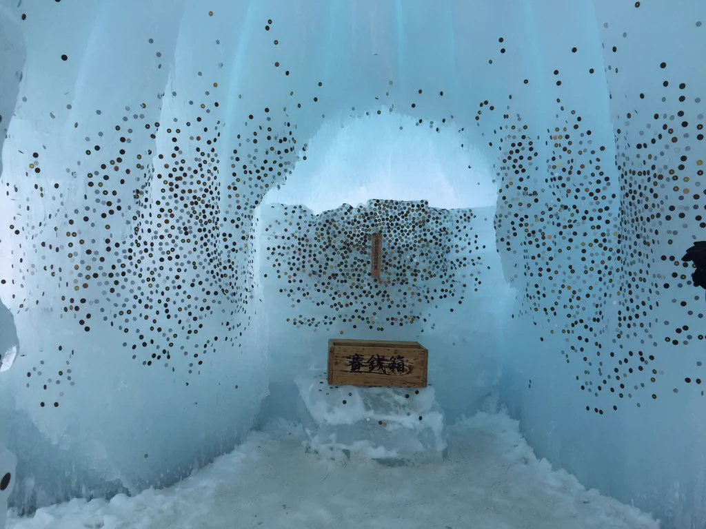
<path fill-rule="evenodd" d="M 538 461 L 507 415 L 450 428 L 440 465 L 390 468 L 304 454 L 301 427 L 255 432 L 232 454 L 166 490 L 74 500 L 8 518 L 9 529 L 657 528 Z"/>

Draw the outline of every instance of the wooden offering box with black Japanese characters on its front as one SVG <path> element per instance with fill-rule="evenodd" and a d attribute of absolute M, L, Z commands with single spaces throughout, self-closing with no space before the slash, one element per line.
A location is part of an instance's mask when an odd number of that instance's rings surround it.
<path fill-rule="evenodd" d="M 416 341 L 328 341 L 332 386 L 426 387 L 429 351 Z"/>

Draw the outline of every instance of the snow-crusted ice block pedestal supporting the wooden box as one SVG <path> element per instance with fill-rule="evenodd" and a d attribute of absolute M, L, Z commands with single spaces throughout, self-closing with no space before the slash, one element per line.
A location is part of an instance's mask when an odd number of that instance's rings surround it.
<path fill-rule="evenodd" d="M 445 421 L 432 387 L 329 386 L 325 372 L 296 382 L 308 451 L 385 464 L 445 456 Z"/>

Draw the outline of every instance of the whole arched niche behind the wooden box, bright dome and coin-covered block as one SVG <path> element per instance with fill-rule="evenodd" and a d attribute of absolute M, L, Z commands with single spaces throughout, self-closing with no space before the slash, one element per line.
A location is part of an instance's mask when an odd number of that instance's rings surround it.
<path fill-rule="evenodd" d="M 383 107 L 323 122 L 258 207 L 263 313 L 287 322 L 267 326 L 265 410 L 287 415 L 282 406 L 298 400 L 292 379 L 325 369 L 330 336 L 433 343 L 431 374 L 451 420 L 492 394 L 498 314 L 514 291 L 496 248 L 498 183 L 485 154 L 444 118 Z M 369 274 L 375 231 L 379 281 Z M 458 354 L 467 360 L 449 370 Z"/>

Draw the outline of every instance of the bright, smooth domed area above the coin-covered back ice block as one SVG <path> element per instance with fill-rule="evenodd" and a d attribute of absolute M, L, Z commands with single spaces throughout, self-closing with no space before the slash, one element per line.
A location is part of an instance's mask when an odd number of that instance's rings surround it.
<path fill-rule="evenodd" d="M 320 213 L 373 198 L 427 200 L 447 209 L 495 206 L 491 166 L 453 124 L 422 123 L 393 109 L 331 120 L 307 142 L 287 183 L 265 202 Z"/>

